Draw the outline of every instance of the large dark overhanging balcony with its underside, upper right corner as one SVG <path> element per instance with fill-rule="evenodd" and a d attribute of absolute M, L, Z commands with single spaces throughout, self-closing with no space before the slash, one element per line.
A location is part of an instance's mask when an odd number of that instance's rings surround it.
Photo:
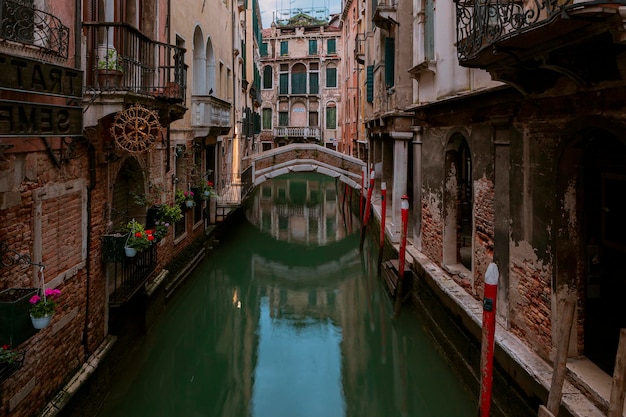
<path fill-rule="evenodd" d="M 588 86 L 619 77 L 620 0 L 457 0 L 457 55 L 465 67 L 523 93 L 542 92 L 563 76 Z"/>

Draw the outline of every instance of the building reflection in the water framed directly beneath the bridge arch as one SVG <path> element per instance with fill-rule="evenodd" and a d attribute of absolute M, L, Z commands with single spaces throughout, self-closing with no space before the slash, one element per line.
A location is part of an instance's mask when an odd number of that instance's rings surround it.
<path fill-rule="evenodd" d="M 306 245 L 325 245 L 354 232 L 356 219 L 342 210 L 334 178 L 323 175 L 286 175 L 266 181 L 252 197 L 246 217 L 272 237 Z M 343 201 L 343 199 L 342 199 Z M 347 203 L 346 203 L 347 204 Z M 353 216 L 354 217 L 354 216 Z"/>

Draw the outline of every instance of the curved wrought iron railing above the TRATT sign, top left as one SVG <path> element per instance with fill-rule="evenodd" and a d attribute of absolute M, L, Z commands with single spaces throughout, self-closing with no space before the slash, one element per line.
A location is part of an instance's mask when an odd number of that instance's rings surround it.
<path fill-rule="evenodd" d="M 70 29 L 50 13 L 32 7 L 32 1 L 0 2 L 0 37 L 67 58 Z"/>

